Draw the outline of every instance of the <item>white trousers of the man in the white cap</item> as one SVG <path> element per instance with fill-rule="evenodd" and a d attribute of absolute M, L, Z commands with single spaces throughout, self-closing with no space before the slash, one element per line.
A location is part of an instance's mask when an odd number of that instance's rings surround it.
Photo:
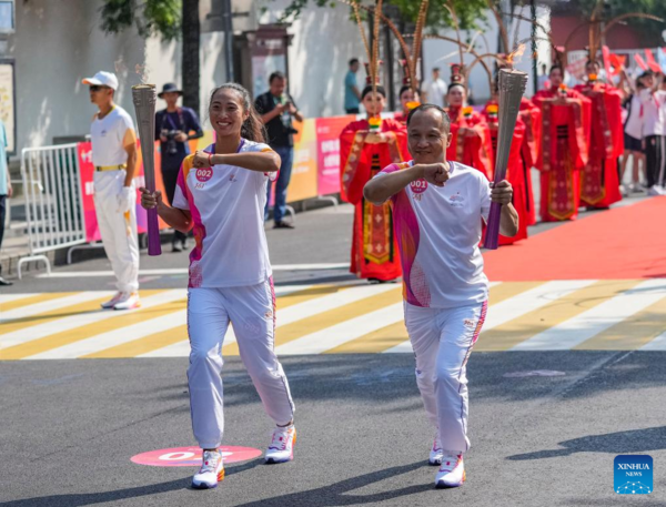
<path fill-rule="evenodd" d="M 94 209 L 104 251 L 115 274 L 115 286 L 120 292 L 135 292 L 139 290 L 137 193 L 132 192 L 130 211 L 119 212 L 118 195 L 124 179 L 124 170 L 95 172 Z"/>

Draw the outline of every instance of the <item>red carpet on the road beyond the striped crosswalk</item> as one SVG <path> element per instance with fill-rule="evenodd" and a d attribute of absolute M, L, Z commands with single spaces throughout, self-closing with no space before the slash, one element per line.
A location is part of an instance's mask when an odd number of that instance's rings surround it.
<path fill-rule="evenodd" d="M 484 258 L 495 282 L 666 277 L 666 197 L 595 212 Z"/>

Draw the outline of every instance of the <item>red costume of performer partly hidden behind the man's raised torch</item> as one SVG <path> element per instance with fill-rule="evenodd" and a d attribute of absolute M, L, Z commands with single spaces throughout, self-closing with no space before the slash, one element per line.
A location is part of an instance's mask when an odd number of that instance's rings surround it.
<path fill-rule="evenodd" d="M 487 122 L 491 139 L 493 143 L 493 152 L 497 151 L 497 102 L 491 100 L 483 110 L 483 116 Z M 500 244 L 508 245 L 519 240 L 527 237 L 527 225 L 529 222 L 527 213 L 527 193 L 528 187 L 525 181 L 523 145 L 525 143 L 525 123 L 518 116 L 516 128 L 514 130 L 511 151 L 508 154 L 508 164 L 506 166 L 506 179 L 513 186 L 513 205 L 518 213 L 518 232 L 515 236 L 508 237 L 500 234 Z M 529 174 L 527 174 L 529 176 Z M 533 204 L 534 205 L 534 204 Z"/>

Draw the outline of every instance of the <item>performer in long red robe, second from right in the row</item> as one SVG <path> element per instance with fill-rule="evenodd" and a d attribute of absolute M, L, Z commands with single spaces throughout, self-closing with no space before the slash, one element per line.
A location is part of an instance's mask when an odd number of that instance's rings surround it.
<path fill-rule="evenodd" d="M 579 171 L 587 163 L 591 102 L 566 88 L 563 70 L 553 65 L 551 88 L 533 102 L 542 112 L 541 216 L 544 222 L 575 220 L 579 204 Z"/>

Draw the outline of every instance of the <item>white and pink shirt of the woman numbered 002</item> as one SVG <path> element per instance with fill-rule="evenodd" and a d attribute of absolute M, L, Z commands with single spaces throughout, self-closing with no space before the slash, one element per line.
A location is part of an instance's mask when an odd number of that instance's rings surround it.
<path fill-rule="evenodd" d="M 206 152 L 212 153 L 214 145 Z M 271 151 L 241 140 L 241 152 Z M 269 175 L 235 165 L 196 169 L 183 160 L 173 206 L 189 210 L 196 245 L 190 254 L 190 287 L 256 285 L 271 275 L 263 229 Z M 273 176 L 276 174 L 273 173 Z"/>

